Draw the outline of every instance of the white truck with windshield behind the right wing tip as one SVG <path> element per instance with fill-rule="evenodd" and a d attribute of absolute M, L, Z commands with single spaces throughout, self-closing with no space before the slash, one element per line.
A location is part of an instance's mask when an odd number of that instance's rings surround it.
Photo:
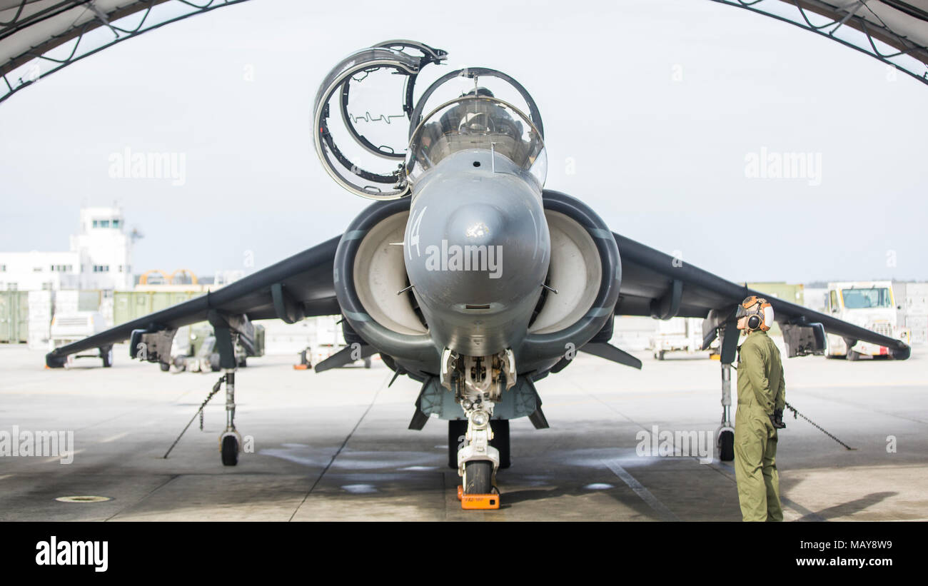
<path fill-rule="evenodd" d="M 899 323 L 892 281 L 854 281 L 828 284 L 826 312 L 834 317 L 860 327 L 865 327 L 888 338 L 896 338 L 909 344 L 909 330 Z M 889 356 L 885 346 L 870 342 L 857 342 L 853 348 L 847 341 L 834 334 L 828 335 L 829 358 L 857 360 L 861 356 Z"/>

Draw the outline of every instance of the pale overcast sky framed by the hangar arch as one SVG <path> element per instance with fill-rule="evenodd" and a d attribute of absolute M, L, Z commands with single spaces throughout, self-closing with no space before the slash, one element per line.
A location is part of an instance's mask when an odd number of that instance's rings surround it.
<path fill-rule="evenodd" d="M 450 53 L 420 89 L 466 66 L 519 80 L 547 187 L 615 232 L 731 280 L 928 278 L 928 86 L 708 0 L 611 5 L 251 0 L 113 46 L 0 104 L 0 250 L 66 250 L 82 203 L 113 201 L 145 234 L 135 273 L 249 251 L 257 269 L 341 234 L 369 202 L 316 159 L 318 83 L 409 38 Z M 185 184 L 111 178 L 126 147 L 183 153 Z M 812 153 L 820 174 L 747 176 L 762 149 Z"/>

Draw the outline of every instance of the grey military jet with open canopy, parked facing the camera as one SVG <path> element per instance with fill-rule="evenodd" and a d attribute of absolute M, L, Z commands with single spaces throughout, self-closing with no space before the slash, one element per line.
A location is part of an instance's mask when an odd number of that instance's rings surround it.
<path fill-rule="evenodd" d="M 133 358 L 165 363 L 178 327 L 209 321 L 226 371 L 223 463 L 235 465 L 235 339 L 248 335 L 254 320 L 341 314 L 349 346 L 316 371 L 380 353 L 395 376 L 419 381 L 409 428 L 421 429 L 430 416 L 447 420 L 449 465 L 458 468 L 465 493 L 486 494 L 496 470 L 509 465 L 509 420 L 528 417 L 536 428 L 548 427 L 538 381 L 569 366 L 576 351 L 641 367 L 609 343 L 616 315 L 702 317 L 703 348 L 720 338 L 723 415 L 716 439 L 722 459 L 730 460 L 734 315 L 741 299 L 767 296 L 614 234 L 579 199 L 546 189 L 541 115 L 509 75 L 451 71 L 415 101 L 419 72 L 445 58 L 428 45 L 389 41 L 346 57 L 321 84 L 313 111 L 316 153 L 339 185 L 377 200 L 341 236 L 203 297 L 58 348 L 46 364 L 60 367 L 71 353 L 126 339 Z M 402 117 L 380 117 L 404 133 L 398 147 L 375 145 L 359 130 L 372 120 L 369 112 L 350 111 L 361 85 L 383 72 L 403 84 Z M 342 126 L 330 124 L 337 111 Z M 388 169 L 362 167 L 362 156 Z M 767 299 L 790 357 L 822 353 L 829 332 L 848 347 L 868 341 L 895 359 L 909 358 L 901 340 Z"/>

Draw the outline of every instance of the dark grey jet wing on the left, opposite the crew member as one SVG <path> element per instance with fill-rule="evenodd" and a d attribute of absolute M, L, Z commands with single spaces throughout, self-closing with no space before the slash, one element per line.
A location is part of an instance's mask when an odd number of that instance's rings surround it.
<path fill-rule="evenodd" d="M 206 321 L 211 312 L 233 318 L 244 315 L 248 321 L 279 318 L 288 323 L 341 313 L 332 275 L 340 239 L 336 236 L 226 287 L 57 348 L 45 356 L 45 363 L 60 366 L 69 354 L 122 342 L 134 330 L 170 331 L 173 338 L 178 327 Z"/>

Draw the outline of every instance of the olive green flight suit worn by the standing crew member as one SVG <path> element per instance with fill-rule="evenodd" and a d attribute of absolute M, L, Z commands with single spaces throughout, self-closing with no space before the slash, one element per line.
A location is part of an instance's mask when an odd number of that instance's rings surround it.
<path fill-rule="evenodd" d="M 782 521 L 774 409 L 786 402 L 780 350 L 755 330 L 741 344 L 735 413 L 735 479 L 745 521 Z"/>

